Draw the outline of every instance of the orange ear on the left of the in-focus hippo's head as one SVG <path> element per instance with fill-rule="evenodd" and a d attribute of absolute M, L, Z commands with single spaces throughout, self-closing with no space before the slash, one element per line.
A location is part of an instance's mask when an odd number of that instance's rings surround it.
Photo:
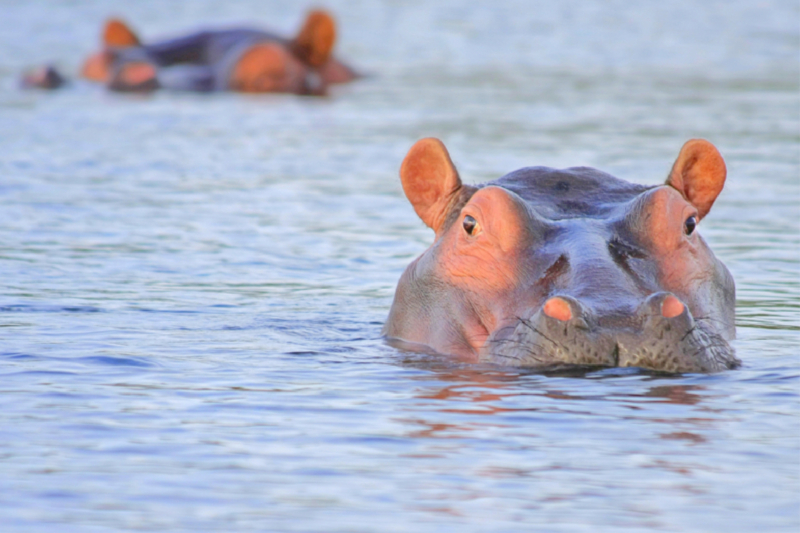
<path fill-rule="evenodd" d="M 442 141 L 433 137 L 417 141 L 403 159 L 400 181 L 419 218 L 438 233 L 461 189 L 461 178 Z"/>

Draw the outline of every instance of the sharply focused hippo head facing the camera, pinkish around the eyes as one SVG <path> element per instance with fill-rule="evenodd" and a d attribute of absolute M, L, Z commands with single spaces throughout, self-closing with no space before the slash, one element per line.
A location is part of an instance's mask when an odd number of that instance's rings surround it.
<path fill-rule="evenodd" d="M 735 368 L 733 278 L 697 231 L 725 175 L 717 149 L 691 140 L 660 186 L 588 167 L 470 186 L 423 139 L 400 178 L 436 237 L 400 278 L 383 334 L 502 365 Z"/>

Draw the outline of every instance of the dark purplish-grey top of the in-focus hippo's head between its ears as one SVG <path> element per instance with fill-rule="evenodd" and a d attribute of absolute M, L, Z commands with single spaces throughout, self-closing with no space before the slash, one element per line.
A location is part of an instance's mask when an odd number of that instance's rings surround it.
<path fill-rule="evenodd" d="M 605 218 L 653 188 L 590 167 L 526 167 L 486 185 L 516 193 L 540 216 L 551 220 Z"/>

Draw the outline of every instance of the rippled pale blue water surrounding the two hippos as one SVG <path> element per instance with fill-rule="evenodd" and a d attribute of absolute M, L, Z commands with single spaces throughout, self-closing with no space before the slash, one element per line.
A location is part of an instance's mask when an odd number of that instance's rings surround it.
<path fill-rule="evenodd" d="M 329 98 L 24 92 L 122 15 L 292 33 L 299 2 L 0 0 L 0 530 L 798 531 L 800 6 L 324 3 Z M 474 5 L 473 5 L 474 4 Z M 655 184 L 704 137 L 700 231 L 743 367 L 543 375 L 384 344 L 432 241 L 398 169 Z"/>

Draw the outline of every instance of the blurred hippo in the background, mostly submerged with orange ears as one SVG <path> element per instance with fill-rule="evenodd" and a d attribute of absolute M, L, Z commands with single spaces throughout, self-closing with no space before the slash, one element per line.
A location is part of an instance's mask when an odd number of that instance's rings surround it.
<path fill-rule="evenodd" d="M 144 43 L 122 20 L 110 19 L 103 48 L 89 56 L 81 76 L 114 91 L 155 89 L 323 95 L 331 84 L 358 74 L 332 52 L 336 24 L 323 10 L 312 10 L 293 38 L 256 28 L 209 29 L 164 41 Z M 24 86 L 55 88 L 52 84 Z"/>

